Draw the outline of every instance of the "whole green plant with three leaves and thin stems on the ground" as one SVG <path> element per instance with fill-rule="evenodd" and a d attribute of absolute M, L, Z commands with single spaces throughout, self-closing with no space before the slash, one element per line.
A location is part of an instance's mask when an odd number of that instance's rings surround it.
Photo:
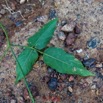
<path fill-rule="evenodd" d="M 61 48 L 49 47 L 43 52 L 43 49 L 45 49 L 46 45 L 53 36 L 57 21 L 57 19 L 54 19 L 45 24 L 35 35 L 28 39 L 27 46 L 11 44 L 5 28 L 2 24 L 0 24 L 0 27 L 3 29 L 7 39 L 7 49 L 2 58 L 10 49 L 16 60 L 16 83 L 18 83 L 21 79 L 24 79 L 32 103 L 34 103 L 35 100 L 28 87 L 25 76 L 32 70 L 34 63 L 38 59 L 38 53 L 43 55 L 43 60 L 48 66 L 54 68 L 60 73 L 94 76 L 93 73 L 86 70 L 78 59 L 76 59 L 73 55 L 66 53 Z M 13 46 L 24 47 L 24 50 L 19 54 L 18 58 L 13 51 Z"/>

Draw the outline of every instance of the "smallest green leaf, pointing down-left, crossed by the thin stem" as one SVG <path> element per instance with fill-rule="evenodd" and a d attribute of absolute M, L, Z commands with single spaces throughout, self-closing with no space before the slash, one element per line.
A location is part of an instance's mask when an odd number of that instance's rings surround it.
<path fill-rule="evenodd" d="M 17 75 L 16 83 L 32 70 L 33 65 L 36 62 L 37 58 L 38 53 L 35 50 L 25 48 L 22 51 L 22 53 L 18 56 L 17 59 L 20 63 L 24 75 L 22 74 L 19 64 L 16 63 L 16 75 Z"/>

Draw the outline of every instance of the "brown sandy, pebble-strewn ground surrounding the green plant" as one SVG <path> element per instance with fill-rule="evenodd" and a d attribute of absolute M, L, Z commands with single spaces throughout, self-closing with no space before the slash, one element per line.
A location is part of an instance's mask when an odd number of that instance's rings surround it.
<path fill-rule="evenodd" d="M 49 74 L 48 67 L 43 63 L 40 57 L 34 65 L 33 70 L 27 76 L 28 84 L 35 85 L 38 88 L 39 96 L 36 96 L 36 103 L 102 103 L 103 102 L 103 3 L 99 0 L 53 0 L 40 2 L 39 0 L 30 0 L 20 4 L 16 0 L 8 1 L 8 5 L 14 12 L 21 11 L 22 15 L 17 14 L 15 20 L 12 20 L 8 10 L 6 13 L 0 14 L 0 22 L 2 22 L 9 32 L 11 42 L 15 44 L 27 44 L 27 39 L 33 35 L 43 24 L 52 17 L 58 17 L 59 22 L 52 40 L 48 46 L 61 47 L 67 52 L 75 55 L 79 60 L 88 62 L 87 69 L 96 74 L 95 77 L 79 77 L 72 75 L 62 75 L 53 71 Z M 35 5 L 34 5 L 35 4 Z M 0 11 L 5 9 L 2 5 L 6 5 L 5 1 L 0 0 Z M 52 14 L 50 13 L 52 12 Z M 55 12 L 56 11 L 56 12 Z M 3 11 L 2 11 L 3 12 Z M 19 16 L 18 16 L 19 15 Z M 23 17 L 22 17 L 23 16 Z M 37 19 L 38 17 L 38 19 Z M 41 19 L 41 18 L 42 19 Z M 25 19 L 24 19 L 25 18 Z M 19 21 L 19 22 L 18 22 Z M 66 22 L 64 22 L 66 21 Z M 81 33 L 73 41 L 72 46 L 65 45 L 67 36 L 61 28 L 70 22 L 80 25 Z M 16 24 L 17 23 L 17 24 Z M 65 24 L 66 23 L 66 24 Z M 1 30 L 2 32 L 2 30 Z M 1 34 L 0 32 L 0 34 Z M 62 35 L 59 35 L 63 32 Z M 3 33 L 2 33 L 3 35 Z M 89 48 L 87 41 L 92 37 L 98 37 L 100 43 L 92 42 L 95 48 Z M 5 37 L 4 37 L 5 38 Z M 69 37 L 68 37 L 69 38 Z M 0 42 L 5 39 L 0 35 Z M 61 40 L 62 39 L 62 40 Z M 69 38 L 70 39 L 70 38 Z M 3 40 L 3 41 L 2 41 Z M 3 54 L 6 43 L 0 45 L 0 56 Z M 80 50 L 80 51 L 78 51 Z M 14 48 L 18 55 L 22 48 Z M 93 59 L 91 59 L 93 58 Z M 95 62 L 93 61 L 95 59 Z M 92 66 L 91 66 L 92 64 Z M 66 79 L 63 80 L 63 77 Z M 51 91 L 48 88 L 47 80 L 50 77 L 62 78 L 58 79 L 58 88 Z M 29 97 L 23 90 L 25 88 L 23 81 L 15 85 L 15 61 L 10 52 L 0 63 L 0 99 L 5 98 L 18 101 L 18 103 L 30 103 Z M 49 78 L 49 79 L 48 79 Z M 72 82 L 68 81 L 73 79 Z M 35 87 L 34 86 L 34 87 Z M 11 95 L 8 95 L 10 94 Z M 24 99 L 24 97 L 26 97 Z M 27 99 L 27 101 L 25 101 Z M 29 101 L 28 101 L 29 100 Z M 22 101 L 22 102 L 21 102 Z M 16 102 L 15 102 L 16 103 Z"/>

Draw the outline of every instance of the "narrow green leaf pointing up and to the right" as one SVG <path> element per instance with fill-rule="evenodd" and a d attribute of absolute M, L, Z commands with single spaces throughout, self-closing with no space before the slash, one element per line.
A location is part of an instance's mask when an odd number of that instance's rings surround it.
<path fill-rule="evenodd" d="M 36 34 L 28 39 L 28 45 L 39 50 L 45 48 L 53 36 L 58 19 L 53 19 L 45 24 Z"/>

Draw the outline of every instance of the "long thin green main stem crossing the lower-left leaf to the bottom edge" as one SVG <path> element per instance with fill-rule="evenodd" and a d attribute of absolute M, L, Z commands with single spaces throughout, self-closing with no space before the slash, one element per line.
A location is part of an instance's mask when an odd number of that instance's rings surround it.
<path fill-rule="evenodd" d="M 20 67 L 20 70 L 21 70 L 21 72 L 22 72 L 22 74 L 23 74 L 23 76 L 24 76 L 22 67 L 21 67 L 21 65 L 20 65 L 20 63 L 19 63 L 19 61 L 18 61 L 18 59 L 17 59 L 17 57 L 16 57 L 16 55 L 15 55 L 12 47 L 11 47 L 11 43 L 10 43 L 10 40 L 9 40 L 9 38 L 8 38 L 8 33 L 7 33 L 6 29 L 5 29 L 5 27 L 4 27 L 1 23 L 0 23 L 0 27 L 2 28 L 2 30 L 3 30 L 4 33 L 5 33 L 5 36 L 6 36 L 6 39 L 7 39 L 7 48 L 10 48 L 10 50 L 11 50 L 11 52 L 12 52 L 12 54 L 13 54 L 15 60 L 16 60 L 16 62 L 18 63 L 18 65 L 19 65 L 19 67 Z M 6 53 L 5 53 L 5 54 L 6 54 Z M 23 79 L 24 79 L 26 88 L 28 89 L 28 92 L 29 92 L 30 98 L 31 98 L 31 100 L 32 100 L 32 103 L 35 103 L 35 100 L 34 100 L 34 98 L 33 98 L 33 96 L 32 96 L 32 93 L 31 93 L 29 87 L 28 87 L 28 84 L 27 84 L 27 81 L 26 81 L 25 76 L 23 77 Z"/>

